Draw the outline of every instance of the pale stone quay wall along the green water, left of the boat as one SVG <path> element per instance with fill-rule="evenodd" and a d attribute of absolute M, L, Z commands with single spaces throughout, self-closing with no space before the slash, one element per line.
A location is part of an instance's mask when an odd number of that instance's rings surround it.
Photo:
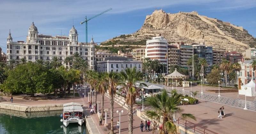
<path fill-rule="evenodd" d="M 63 110 L 63 104 L 47 104 L 47 105 L 30 106 L 30 105 L 0 102 L 0 108 L 21 111 L 21 112 L 40 112 L 40 111 Z"/>

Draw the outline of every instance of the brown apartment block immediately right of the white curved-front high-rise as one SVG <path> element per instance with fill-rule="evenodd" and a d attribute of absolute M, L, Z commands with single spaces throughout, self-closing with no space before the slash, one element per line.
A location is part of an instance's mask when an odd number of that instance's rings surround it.
<path fill-rule="evenodd" d="M 171 65 L 180 65 L 180 49 L 176 46 L 168 45 L 168 70 Z"/>

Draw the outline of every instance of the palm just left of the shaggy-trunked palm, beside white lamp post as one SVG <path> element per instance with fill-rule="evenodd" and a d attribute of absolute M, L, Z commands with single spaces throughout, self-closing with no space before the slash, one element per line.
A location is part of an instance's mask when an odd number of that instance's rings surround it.
<path fill-rule="evenodd" d="M 99 91 L 101 94 L 101 117 L 103 117 L 104 95 L 107 92 L 107 88 L 108 88 L 108 74 L 100 73 L 98 75 L 98 84 L 96 86 L 96 90 Z"/>

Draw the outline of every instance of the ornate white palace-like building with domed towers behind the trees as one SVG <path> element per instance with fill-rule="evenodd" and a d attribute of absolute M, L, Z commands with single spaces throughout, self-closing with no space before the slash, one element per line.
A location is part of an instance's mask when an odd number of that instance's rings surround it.
<path fill-rule="evenodd" d="M 59 57 L 64 64 L 64 59 L 79 53 L 84 60 L 87 60 L 91 69 L 94 69 L 94 41 L 89 44 L 78 42 L 78 34 L 73 26 L 69 36 L 38 35 L 34 22 L 28 29 L 28 36 L 25 41 L 13 41 L 11 32 L 7 38 L 7 61 L 9 59 L 25 58 L 35 62 L 37 59 L 51 61 L 53 57 Z"/>

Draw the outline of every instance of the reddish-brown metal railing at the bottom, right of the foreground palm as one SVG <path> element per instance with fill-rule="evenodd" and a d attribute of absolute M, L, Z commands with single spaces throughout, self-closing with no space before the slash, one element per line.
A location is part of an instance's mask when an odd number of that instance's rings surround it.
<path fill-rule="evenodd" d="M 182 118 L 178 119 L 178 124 L 183 125 L 186 129 L 194 130 L 194 133 L 197 132 L 197 133 L 200 133 L 200 134 L 218 134 L 216 132 L 213 132 L 211 130 L 203 128 L 202 126 L 196 126 L 195 123 L 189 122 L 189 121 L 184 120 Z"/>

